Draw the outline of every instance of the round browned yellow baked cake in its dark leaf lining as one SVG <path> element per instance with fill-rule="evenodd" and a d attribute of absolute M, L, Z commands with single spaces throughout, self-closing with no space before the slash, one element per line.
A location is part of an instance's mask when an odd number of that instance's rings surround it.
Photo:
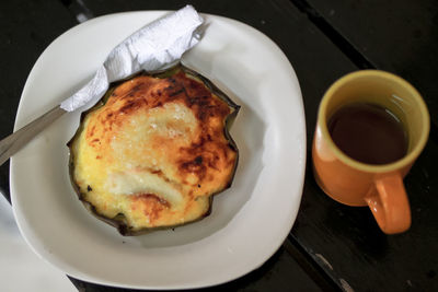
<path fill-rule="evenodd" d="M 239 108 L 181 63 L 112 84 L 68 143 L 79 199 L 123 235 L 205 218 L 235 173 Z"/>

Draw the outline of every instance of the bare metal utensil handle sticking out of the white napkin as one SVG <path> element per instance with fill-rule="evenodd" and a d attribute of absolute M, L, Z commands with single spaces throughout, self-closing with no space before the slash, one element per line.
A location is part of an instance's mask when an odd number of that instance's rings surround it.
<path fill-rule="evenodd" d="M 43 116 L 31 121 L 20 130 L 11 133 L 0 141 L 0 165 L 16 153 L 23 145 L 27 144 L 35 136 L 43 131 L 57 118 L 67 113 L 59 105 L 48 110 Z"/>

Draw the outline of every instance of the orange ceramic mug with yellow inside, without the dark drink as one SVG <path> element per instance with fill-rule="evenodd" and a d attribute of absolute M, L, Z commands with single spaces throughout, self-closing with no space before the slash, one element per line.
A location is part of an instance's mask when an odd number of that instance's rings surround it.
<path fill-rule="evenodd" d="M 407 135 L 407 153 L 388 164 L 366 164 L 342 152 L 328 132 L 336 110 L 351 103 L 376 104 L 396 115 Z M 403 79 L 379 70 L 362 70 L 337 80 L 321 101 L 312 159 L 316 183 L 334 200 L 369 206 L 387 234 L 411 226 L 411 209 L 403 178 L 424 149 L 429 114 L 419 93 Z"/>

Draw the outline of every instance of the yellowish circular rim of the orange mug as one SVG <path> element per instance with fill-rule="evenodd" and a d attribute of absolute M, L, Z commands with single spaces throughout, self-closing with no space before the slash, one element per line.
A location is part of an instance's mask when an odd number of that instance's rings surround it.
<path fill-rule="evenodd" d="M 348 155 L 346 155 L 333 141 L 330 132 L 328 132 L 328 127 L 326 122 L 326 107 L 330 102 L 330 97 L 345 83 L 350 82 L 351 80 L 362 78 L 362 77 L 381 77 L 388 80 L 391 80 L 393 82 L 396 82 L 401 84 L 403 87 L 405 87 L 413 96 L 415 102 L 419 105 L 419 110 L 423 113 L 422 114 L 422 121 L 423 125 L 425 125 L 425 128 L 423 129 L 419 139 L 417 140 L 417 143 L 415 147 L 402 159 L 396 160 L 391 163 L 387 164 L 367 164 L 364 162 L 356 161 Z M 336 80 L 330 87 L 328 90 L 324 93 L 323 98 L 320 104 L 320 108 L 318 110 L 318 127 L 320 127 L 322 131 L 322 136 L 326 137 L 326 142 L 328 148 L 333 151 L 334 155 L 337 156 L 344 164 L 349 165 L 356 170 L 362 171 L 362 172 L 368 172 L 368 173 L 390 173 L 397 171 L 400 168 L 405 167 L 406 165 L 413 163 L 423 149 L 426 145 L 428 136 L 429 136 L 429 130 L 430 130 L 430 117 L 429 117 L 429 112 L 427 109 L 426 103 L 424 102 L 422 95 L 418 93 L 418 91 L 406 80 L 390 73 L 385 72 L 382 70 L 373 70 L 373 69 L 367 69 L 367 70 L 359 70 L 355 72 L 350 72 L 338 80 Z"/>

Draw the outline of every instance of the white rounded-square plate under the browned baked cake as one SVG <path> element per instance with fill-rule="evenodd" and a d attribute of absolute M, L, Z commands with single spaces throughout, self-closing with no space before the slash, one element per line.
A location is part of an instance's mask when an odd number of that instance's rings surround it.
<path fill-rule="evenodd" d="M 112 14 L 58 37 L 25 84 L 15 129 L 80 89 L 106 55 L 165 11 Z M 85 211 L 71 187 L 67 141 L 80 113 L 64 115 L 11 160 L 19 227 L 39 256 L 85 281 L 139 289 L 208 287 L 241 277 L 281 245 L 297 217 L 306 168 L 306 122 L 297 77 L 265 35 L 204 15 L 201 42 L 183 62 L 242 106 L 231 129 L 240 150 L 233 185 L 212 213 L 174 231 L 123 237 Z"/>

